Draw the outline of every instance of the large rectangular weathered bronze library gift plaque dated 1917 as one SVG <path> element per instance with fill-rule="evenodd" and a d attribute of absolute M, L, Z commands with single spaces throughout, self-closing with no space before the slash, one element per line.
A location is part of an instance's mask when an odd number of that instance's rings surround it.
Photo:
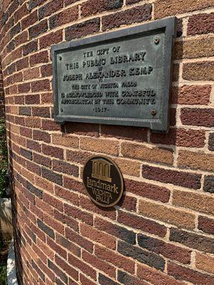
<path fill-rule="evenodd" d="M 168 130 L 175 17 L 52 46 L 58 123 Z"/>

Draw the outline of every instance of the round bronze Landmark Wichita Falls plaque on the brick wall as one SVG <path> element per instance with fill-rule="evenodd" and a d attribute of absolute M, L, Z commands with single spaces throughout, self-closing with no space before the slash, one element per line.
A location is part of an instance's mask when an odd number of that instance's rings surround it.
<path fill-rule="evenodd" d="M 113 160 L 91 157 L 83 169 L 83 183 L 89 197 L 101 207 L 112 207 L 123 195 L 123 177 Z"/>

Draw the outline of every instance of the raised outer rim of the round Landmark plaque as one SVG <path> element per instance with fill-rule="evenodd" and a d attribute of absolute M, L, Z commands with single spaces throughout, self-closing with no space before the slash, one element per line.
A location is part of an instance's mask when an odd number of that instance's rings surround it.
<path fill-rule="evenodd" d="M 107 205 L 107 204 L 106 204 L 106 205 L 103 205 L 103 204 L 101 204 L 101 203 L 99 203 L 99 202 L 96 202 L 96 200 L 93 199 L 93 198 L 91 197 L 91 195 L 88 193 L 88 190 L 87 190 L 86 185 L 85 185 L 84 180 L 83 180 L 83 172 L 84 172 L 84 169 L 85 169 L 85 167 L 86 167 L 86 164 L 88 163 L 89 160 L 92 160 L 92 158 L 96 158 L 96 157 L 102 157 L 102 158 L 105 158 L 106 160 L 109 160 L 109 161 L 116 167 L 116 169 L 118 170 L 118 173 L 119 173 L 119 175 L 120 175 L 120 178 L 121 178 L 121 193 L 120 193 L 118 199 L 117 199 L 115 202 L 113 202 L 113 203 L 111 203 L 111 204 L 108 204 L 108 205 Z M 91 155 L 90 157 L 88 157 L 88 159 L 86 160 L 86 162 L 85 162 L 84 165 L 83 165 L 83 172 L 82 172 L 82 177 L 81 177 L 81 178 L 82 178 L 82 180 L 83 180 L 84 188 L 85 188 L 85 190 L 86 190 L 86 192 L 87 192 L 88 197 L 91 199 L 91 201 L 92 201 L 94 204 L 98 205 L 99 207 L 103 207 L 103 208 L 110 208 L 110 207 L 113 207 L 113 206 L 115 206 L 116 204 L 118 204 L 118 202 L 121 200 L 121 197 L 123 196 L 123 192 L 124 192 L 124 182 L 123 182 L 123 175 L 122 175 L 122 172 L 121 172 L 120 168 L 118 167 L 118 165 L 116 164 L 116 162 L 114 162 L 111 158 L 106 157 L 105 155 Z"/>

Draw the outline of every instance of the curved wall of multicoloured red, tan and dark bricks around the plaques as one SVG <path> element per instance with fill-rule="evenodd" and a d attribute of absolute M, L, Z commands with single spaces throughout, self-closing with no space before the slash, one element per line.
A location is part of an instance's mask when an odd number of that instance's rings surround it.
<path fill-rule="evenodd" d="M 20 284 L 214 284 L 213 0 L 4 0 L 1 59 Z M 178 17 L 170 130 L 54 123 L 50 46 Z M 96 207 L 105 154 L 126 195 Z"/>

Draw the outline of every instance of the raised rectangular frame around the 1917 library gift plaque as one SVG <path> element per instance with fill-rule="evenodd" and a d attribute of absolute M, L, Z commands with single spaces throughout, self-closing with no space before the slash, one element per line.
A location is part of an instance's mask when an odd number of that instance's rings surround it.
<path fill-rule="evenodd" d="M 177 18 L 175 16 L 161 20 L 152 21 L 131 28 L 122 28 L 117 31 L 98 34 L 96 36 L 88 36 L 87 38 L 76 39 L 65 43 L 58 43 L 51 46 L 53 81 L 52 87 L 54 91 L 54 120 L 56 123 L 64 124 L 66 122 L 78 123 L 97 123 L 106 125 L 127 125 L 135 127 L 151 128 L 156 132 L 167 132 L 169 125 L 169 107 L 170 107 L 170 88 L 173 76 L 173 48 L 174 38 L 176 37 Z M 164 58 L 163 58 L 163 88 L 161 94 L 162 109 L 161 119 L 137 119 L 137 118 L 113 118 L 113 117 L 96 117 L 83 115 L 61 115 L 58 113 L 58 88 L 57 88 L 57 56 L 63 51 L 71 51 L 73 48 L 87 48 L 91 45 L 104 43 L 105 41 L 119 41 L 120 38 L 140 35 L 141 33 L 149 33 L 152 31 L 164 31 Z M 155 33 L 154 33 L 155 35 Z M 167 56 L 165 56 L 167 55 Z"/>

